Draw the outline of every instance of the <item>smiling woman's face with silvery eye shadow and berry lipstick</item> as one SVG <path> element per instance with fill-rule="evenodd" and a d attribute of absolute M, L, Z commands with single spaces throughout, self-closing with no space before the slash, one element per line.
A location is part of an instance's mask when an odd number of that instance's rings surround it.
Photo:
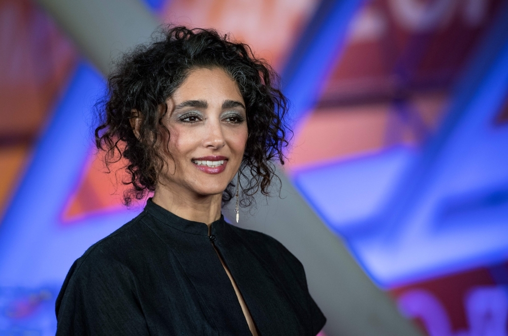
<path fill-rule="evenodd" d="M 196 69 L 167 104 L 163 184 L 176 192 L 221 194 L 235 177 L 247 142 L 245 103 L 236 82 L 218 68 Z"/>

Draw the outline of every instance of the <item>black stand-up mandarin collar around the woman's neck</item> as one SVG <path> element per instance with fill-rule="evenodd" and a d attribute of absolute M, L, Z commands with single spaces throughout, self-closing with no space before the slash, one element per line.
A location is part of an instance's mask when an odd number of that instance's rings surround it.
<path fill-rule="evenodd" d="M 172 212 L 164 209 L 163 207 L 153 203 L 152 198 L 148 198 L 143 212 L 150 214 L 156 219 L 160 220 L 166 225 L 171 226 L 179 231 L 199 234 L 200 236 L 208 236 L 208 225 L 202 222 L 195 222 L 182 217 L 179 217 Z M 220 214 L 220 218 L 212 222 L 210 225 L 210 234 L 216 233 L 216 230 L 224 226 L 224 215 Z"/>

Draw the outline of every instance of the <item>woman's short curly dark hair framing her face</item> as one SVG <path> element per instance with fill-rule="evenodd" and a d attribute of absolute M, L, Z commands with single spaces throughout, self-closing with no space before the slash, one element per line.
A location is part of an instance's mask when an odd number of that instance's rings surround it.
<path fill-rule="evenodd" d="M 241 205 L 250 206 L 258 191 L 268 195 L 274 178 L 280 182 L 273 161 L 284 164 L 282 150 L 288 146 L 291 130 L 284 121 L 288 102 L 279 89 L 277 74 L 248 45 L 231 41 L 228 35 L 221 36 L 214 29 L 167 26 L 154 34 L 150 44 L 119 58 L 108 77 L 107 95 L 98 103 L 96 146 L 105 151 L 108 170 L 112 163 L 126 162 L 123 169 L 128 179 L 122 183 L 130 188 L 123 193 L 124 205 L 155 190 L 157 175 L 164 167 L 156 143 L 161 132 L 169 132 L 161 123 L 168 112 L 167 98 L 190 70 L 215 67 L 235 80 L 246 105 L 248 138 L 240 165 Z M 161 108 L 165 109 L 162 116 Z M 130 124 L 133 111 L 141 115 L 139 139 Z M 234 188 L 230 183 L 224 191 L 223 205 L 233 197 Z"/>

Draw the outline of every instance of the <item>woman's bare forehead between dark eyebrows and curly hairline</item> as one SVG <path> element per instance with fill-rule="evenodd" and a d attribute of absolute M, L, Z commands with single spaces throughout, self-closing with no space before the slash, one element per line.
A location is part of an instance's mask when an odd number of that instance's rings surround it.
<path fill-rule="evenodd" d="M 184 100 L 206 100 L 209 104 L 222 104 L 226 99 L 244 103 L 236 82 L 220 68 L 191 70 L 172 97 L 175 103 Z"/>

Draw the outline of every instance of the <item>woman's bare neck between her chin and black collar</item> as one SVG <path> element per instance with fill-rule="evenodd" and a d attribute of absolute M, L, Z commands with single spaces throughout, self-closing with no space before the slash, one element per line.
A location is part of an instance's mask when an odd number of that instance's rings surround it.
<path fill-rule="evenodd" d="M 220 218 L 222 194 L 202 196 L 172 187 L 158 184 L 153 193 L 153 203 L 178 217 L 208 226 Z"/>

